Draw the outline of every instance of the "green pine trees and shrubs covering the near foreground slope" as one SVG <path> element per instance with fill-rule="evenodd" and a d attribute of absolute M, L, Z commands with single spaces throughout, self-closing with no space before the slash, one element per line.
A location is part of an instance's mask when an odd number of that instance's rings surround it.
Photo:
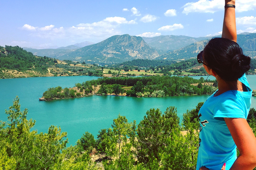
<path fill-rule="evenodd" d="M 187 110 L 180 120 L 175 106 L 162 113 L 149 109 L 139 123 L 117 115 L 108 129 L 99 130 L 96 140 L 86 131 L 75 146 L 66 147 L 67 132 L 50 126 L 47 133 L 32 130 L 28 110 L 20 110 L 19 98 L 0 121 L 0 167 L 4 170 L 194 170 L 197 162 L 198 111 Z M 247 121 L 256 135 L 256 111 Z M 180 124 L 181 123 L 181 124 Z M 182 125 L 182 126 L 181 126 Z M 182 131 L 183 130 L 183 131 Z"/>

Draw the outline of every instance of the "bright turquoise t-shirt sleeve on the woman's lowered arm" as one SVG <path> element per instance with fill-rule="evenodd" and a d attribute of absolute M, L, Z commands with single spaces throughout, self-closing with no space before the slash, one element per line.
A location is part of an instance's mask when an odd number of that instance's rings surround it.
<path fill-rule="evenodd" d="M 213 118 L 219 121 L 224 121 L 224 118 L 246 119 L 243 104 L 234 101 L 232 98 L 221 102 L 215 109 Z"/>

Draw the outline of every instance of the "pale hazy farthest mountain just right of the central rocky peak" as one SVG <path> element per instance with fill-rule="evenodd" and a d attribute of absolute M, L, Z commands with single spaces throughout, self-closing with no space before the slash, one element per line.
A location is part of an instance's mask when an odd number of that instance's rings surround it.
<path fill-rule="evenodd" d="M 164 53 L 180 49 L 185 47 L 191 43 L 198 42 L 201 40 L 209 39 L 209 37 L 188 37 L 188 36 L 158 36 L 158 37 L 142 37 L 143 40 L 152 48 L 159 50 L 159 52 L 163 51 Z"/>

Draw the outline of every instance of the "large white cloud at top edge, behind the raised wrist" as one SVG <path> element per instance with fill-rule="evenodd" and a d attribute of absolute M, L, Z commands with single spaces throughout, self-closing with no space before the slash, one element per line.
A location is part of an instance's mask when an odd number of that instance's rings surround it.
<path fill-rule="evenodd" d="M 215 13 L 217 11 L 224 10 L 223 0 L 199 0 L 197 2 L 186 3 L 182 8 L 182 13 L 188 14 L 191 12 L 199 13 Z M 255 0 L 237 0 L 236 12 L 244 12 L 254 10 L 256 8 Z"/>

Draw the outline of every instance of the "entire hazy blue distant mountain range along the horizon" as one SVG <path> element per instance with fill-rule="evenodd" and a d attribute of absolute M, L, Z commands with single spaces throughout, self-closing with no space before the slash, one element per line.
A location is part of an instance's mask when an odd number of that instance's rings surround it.
<path fill-rule="evenodd" d="M 87 63 L 120 63 L 133 59 L 181 60 L 195 58 L 212 37 L 158 36 L 141 38 L 116 35 L 102 42 L 80 48 L 79 44 L 57 49 L 24 48 L 38 56 L 85 61 Z M 237 42 L 244 54 L 256 56 L 256 33 L 243 33 Z M 80 44 L 83 46 L 86 44 Z"/>

